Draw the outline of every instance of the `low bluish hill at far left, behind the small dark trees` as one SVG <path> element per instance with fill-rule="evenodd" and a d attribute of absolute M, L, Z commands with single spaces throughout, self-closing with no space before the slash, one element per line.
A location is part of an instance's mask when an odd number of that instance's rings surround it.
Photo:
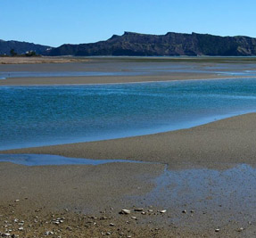
<path fill-rule="evenodd" d="M 21 41 L 4 41 L 0 40 L 0 54 L 10 54 L 10 51 L 14 49 L 16 53 L 26 53 L 28 51 L 34 51 L 36 53 L 43 53 L 47 49 L 51 48 L 47 45 L 36 45 L 33 43 L 28 42 L 21 42 Z"/>

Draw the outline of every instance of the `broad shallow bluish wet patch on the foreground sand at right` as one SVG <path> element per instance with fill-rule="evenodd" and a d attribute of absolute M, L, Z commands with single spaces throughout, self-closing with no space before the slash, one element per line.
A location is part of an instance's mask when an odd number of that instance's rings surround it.
<path fill-rule="evenodd" d="M 145 201 L 165 208 L 255 212 L 256 168 L 240 164 L 226 170 L 165 170 Z"/>

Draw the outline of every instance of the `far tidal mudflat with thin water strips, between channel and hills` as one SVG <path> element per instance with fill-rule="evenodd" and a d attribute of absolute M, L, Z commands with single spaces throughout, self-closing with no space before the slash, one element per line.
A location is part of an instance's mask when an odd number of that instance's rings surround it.
<path fill-rule="evenodd" d="M 1 64 L 2 62 L 2 64 Z M 146 81 L 166 81 L 203 78 L 237 78 L 232 71 L 255 71 L 255 58 L 157 58 L 157 57 L 39 57 L 0 58 L 0 73 L 11 74 L 0 80 L 0 86 L 8 85 L 79 85 L 108 84 Z M 13 72 L 38 72 L 37 77 L 15 78 Z M 65 72 L 74 75 L 65 76 Z M 48 73 L 48 77 L 40 74 Z M 62 77 L 51 77 L 62 74 Z M 79 76 L 79 74 L 89 76 Z M 95 76 L 92 76 L 94 75 Z M 100 76 L 99 76 L 100 74 Z M 110 75 L 111 74 L 111 75 Z M 0 74 L 1 77 L 1 74 Z"/>

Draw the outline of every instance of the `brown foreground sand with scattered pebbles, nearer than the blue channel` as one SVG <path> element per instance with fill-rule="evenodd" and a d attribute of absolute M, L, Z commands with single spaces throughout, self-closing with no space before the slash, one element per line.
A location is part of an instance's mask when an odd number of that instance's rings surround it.
<path fill-rule="evenodd" d="M 210 198 L 210 193 L 209 199 L 197 201 L 200 209 L 193 213 L 190 213 L 194 209 L 192 203 L 150 207 L 152 204 L 146 198 L 155 185 L 154 179 L 163 173 L 164 164 L 168 164 L 169 169 L 179 170 L 223 170 L 240 163 L 255 166 L 255 122 L 256 114 L 252 113 L 156 135 L 1 152 L 145 160 L 160 164 L 24 167 L 1 163 L 0 189 L 4 193 L 0 193 L 0 215 L 3 215 L 0 232 L 4 220 L 18 217 L 26 220 L 25 232 L 16 233 L 23 234 L 22 237 L 33 237 L 33 232 L 44 234 L 47 230 L 54 230 L 62 237 L 101 237 L 107 232 L 111 237 L 254 237 L 255 208 L 252 206 L 251 212 L 235 207 L 232 194 L 230 203 L 220 206 L 219 201 L 216 203 Z M 185 194 L 186 190 L 180 193 L 180 199 Z M 226 197 L 225 191 L 221 194 Z M 144 208 L 146 214 L 133 211 L 133 206 Z M 120 215 L 120 209 L 124 208 L 131 209 L 132 214 Z M 157 211 L 161 209 L 167 212 L 161 214 Z M 184 209 L 186 214 L 182 212 Z M 52 213 L 68 221 L 56 226 Z M 92 216 L 97 218 L 90 218 Z M 44 226 L 38 226 L 34 219 L 39 219 Z M 220 231 L 216 232 L 218 227 Z"/>

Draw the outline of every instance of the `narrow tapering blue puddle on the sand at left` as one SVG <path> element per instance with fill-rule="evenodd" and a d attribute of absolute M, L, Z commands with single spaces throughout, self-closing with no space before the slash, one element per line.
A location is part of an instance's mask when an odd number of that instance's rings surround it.
<path fill-rule="evenodd" d="M 26 166 L 43 165 L 100 165 L 106 163 L 146 163 L 136 160 L 90 160 L 67 158 L 59 155 L 50 154 L 0 154 L 0 162 L 12 162 Z"/>

